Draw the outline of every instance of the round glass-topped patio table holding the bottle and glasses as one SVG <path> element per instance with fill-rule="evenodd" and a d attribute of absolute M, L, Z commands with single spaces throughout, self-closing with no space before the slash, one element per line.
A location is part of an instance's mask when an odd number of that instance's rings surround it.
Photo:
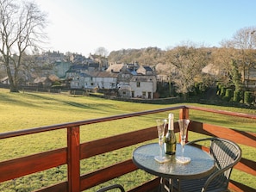
<path fill-rule="evenodd" d="M 169 156 L 170 161 L 160 164 L 154 159 L 154 156 L 158 155 L 158 143 L 139 146 L 133 152 L 133 162 L 138 168 L 150 174 L 178 181 L 206 177 L 215 170 L 214 158 L 195 146 L 184 146 L 184 156 L 191 159 L 188 164 L 180 164 L 175 159 L 175 156 L 181 156 L 180 144 L 177 144 L 176 155 Z"/>

